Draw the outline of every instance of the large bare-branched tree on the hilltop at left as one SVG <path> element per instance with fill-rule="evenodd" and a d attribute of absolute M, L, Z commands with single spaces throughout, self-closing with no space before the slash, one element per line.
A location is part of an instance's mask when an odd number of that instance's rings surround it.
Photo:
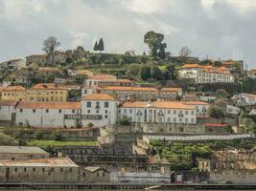
<path fill-rule="evenodd" d="M 58 42 L 58 39 L 55 36 L 49 36 L 46 40 L 43 41 L 42 50 L 47 53 L 47 62 L 50 62 L 52 65 L 55 62 L 55 52 L 59 45 L 60 42 Z"/>

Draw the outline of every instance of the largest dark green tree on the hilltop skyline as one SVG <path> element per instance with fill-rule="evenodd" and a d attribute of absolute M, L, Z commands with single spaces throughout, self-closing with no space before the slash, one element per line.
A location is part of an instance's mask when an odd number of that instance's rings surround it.
<path fill-rule="evenodd" d="M 151 55 L 153 57 L 157 56 L 157 50 L 160 49 L 162 41 L 164 40 L 164 35 L 162 33 L 156 32 L 147 32 L 144 35 L 144 42 L 148 44 L 149 48 L 151 49 Z"/>

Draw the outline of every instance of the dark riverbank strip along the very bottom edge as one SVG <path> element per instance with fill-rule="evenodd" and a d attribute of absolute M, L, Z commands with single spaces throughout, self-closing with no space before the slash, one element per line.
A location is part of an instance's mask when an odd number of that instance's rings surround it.
<path fill-rule="evenodd" d="M 131 183 L 0 183 L 2 189 L 156 189 L 156 190 L 255 190 L 255 184 L 131 184 Z"/>

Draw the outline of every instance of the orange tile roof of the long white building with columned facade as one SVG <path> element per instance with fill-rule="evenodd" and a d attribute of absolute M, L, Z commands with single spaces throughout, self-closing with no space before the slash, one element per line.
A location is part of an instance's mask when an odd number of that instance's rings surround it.
<path fill-rule="evenodd" d="M 134 101 L 134 102 L 124 102 L 124 108 L 163 108 L 163 109 L 186 109 L 195 110 L 194 107 L 186 105 L 179 101 L 154 101 L 151 105 L 147 101 Z"/>

